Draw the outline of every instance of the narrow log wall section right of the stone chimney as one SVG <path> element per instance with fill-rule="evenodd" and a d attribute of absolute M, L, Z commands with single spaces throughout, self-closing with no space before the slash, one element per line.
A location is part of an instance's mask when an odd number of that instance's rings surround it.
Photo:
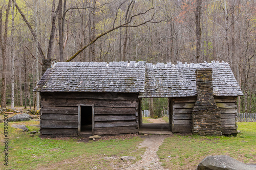
<path fill-rule="evenodd" d="M 237 97 L 215 96 L 217 106 L 221 111 L 221 128 L 223 135 L 237 134 L 236 113 Z"/>

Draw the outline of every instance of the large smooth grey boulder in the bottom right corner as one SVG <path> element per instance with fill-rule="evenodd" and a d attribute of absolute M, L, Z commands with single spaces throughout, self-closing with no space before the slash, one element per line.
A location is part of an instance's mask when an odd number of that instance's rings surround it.
<path fill-rule="evenodd" d="M 207 156 L 197 166 L 198 170 L 255 170 L 255 167 L 246 165 L 227 155 Z"/>

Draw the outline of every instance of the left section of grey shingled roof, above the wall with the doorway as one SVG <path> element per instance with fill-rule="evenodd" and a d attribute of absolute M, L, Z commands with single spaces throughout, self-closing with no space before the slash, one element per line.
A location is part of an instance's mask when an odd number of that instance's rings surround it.
<path fill-rule="evenodd" d="M 58 62 L 34 90 L 40 92 L 144 92 L 145 62 Z"/>

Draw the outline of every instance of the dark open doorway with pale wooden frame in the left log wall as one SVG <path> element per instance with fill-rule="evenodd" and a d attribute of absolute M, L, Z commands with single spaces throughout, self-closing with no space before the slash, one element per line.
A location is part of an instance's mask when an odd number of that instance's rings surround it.
<path fill-rule="evenodd" d="M 78 106 L 78 135 L 94 134 L 94 105 Z"/>

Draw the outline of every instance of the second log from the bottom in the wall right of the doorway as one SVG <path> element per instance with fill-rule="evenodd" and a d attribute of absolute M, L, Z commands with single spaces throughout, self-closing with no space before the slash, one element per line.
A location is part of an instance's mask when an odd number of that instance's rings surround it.
<path fill-rule="evenodd" d="M 112 122 L 95 122 L 94 128 L 108 128 L 108 127 L 122 127 L 122 126 L 136 126 L 134 121 L 112 121 Z"/>

